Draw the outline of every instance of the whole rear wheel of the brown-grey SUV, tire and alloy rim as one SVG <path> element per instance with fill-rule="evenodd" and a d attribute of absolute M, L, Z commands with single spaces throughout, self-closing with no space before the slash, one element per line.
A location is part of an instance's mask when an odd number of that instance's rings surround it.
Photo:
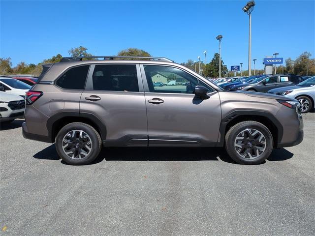
<path fill-rule="evenodd" d="M 56 138 L 58 155 L 71 165 L 91 163 L 101 147 L 101 138 L 95 128 L 81 122 L 65 125 Z"/>

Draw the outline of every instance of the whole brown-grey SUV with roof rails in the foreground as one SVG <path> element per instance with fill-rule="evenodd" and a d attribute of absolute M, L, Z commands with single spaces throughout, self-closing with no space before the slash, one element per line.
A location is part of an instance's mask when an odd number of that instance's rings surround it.
<path fill-rule="evenodd" d="M 173 86 L 158 86 L 156 82 Z M 303 140 L 298 101 L 225 91 L 165 58 L 63 58 L 26 93 L 25 138 L 73 165 L 101 147 L 223 147 L 241 164 Z"/>

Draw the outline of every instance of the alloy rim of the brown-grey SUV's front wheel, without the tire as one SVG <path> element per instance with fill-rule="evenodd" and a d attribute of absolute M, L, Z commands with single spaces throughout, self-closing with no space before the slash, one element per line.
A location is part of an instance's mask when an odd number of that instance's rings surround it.
<path fill-rule="evenodd" d="M 234 148 L 238 155 L 247 159 L 261 156 L 266 149 L 266 138 L 258 130 L 248 128 L 242 130 L 235 138 Z"/>

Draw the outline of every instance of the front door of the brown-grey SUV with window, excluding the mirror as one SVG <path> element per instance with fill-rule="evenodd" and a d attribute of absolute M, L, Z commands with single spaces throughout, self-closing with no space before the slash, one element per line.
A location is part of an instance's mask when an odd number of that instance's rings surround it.
<path fill-rule="evenodd" d="M 221 104 L 216 90 L 188 71 L 173 66 L 141 65 L 141 74 L 149 146 L 214 146 L 217 143 Z M 163 86 L 156 86 L 156 82 L 162 82 Z M 195 97 L 193 91 L 198 84 L 209 89 L 208 99 Z"/>

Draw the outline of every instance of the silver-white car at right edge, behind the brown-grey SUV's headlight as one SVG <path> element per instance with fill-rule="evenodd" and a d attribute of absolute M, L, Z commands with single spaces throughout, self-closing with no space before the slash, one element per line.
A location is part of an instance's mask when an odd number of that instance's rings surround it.
<path fill-rule="evenodd" d="M 296 86 L 271 89 L 268 93 L 283 95 L 295 98 L 300 102 L 302 113 L 308 113 L 314 109 L 315 101 L 315 76 L 311 77 Z"/>

